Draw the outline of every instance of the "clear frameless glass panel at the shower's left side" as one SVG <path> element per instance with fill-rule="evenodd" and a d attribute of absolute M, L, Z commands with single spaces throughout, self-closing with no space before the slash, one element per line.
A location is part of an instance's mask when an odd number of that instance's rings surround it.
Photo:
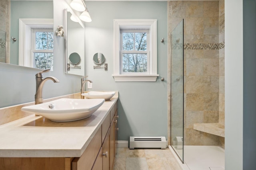
<path fill-rule="evenodd" d="M 171 146 L 183 162 L 184 137 L 183 20 L 171 33 Z"/>

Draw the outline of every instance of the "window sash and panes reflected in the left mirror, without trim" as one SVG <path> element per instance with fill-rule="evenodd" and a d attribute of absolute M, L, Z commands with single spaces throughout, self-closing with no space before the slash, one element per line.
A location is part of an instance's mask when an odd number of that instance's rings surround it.
<path fill-rule="evenodd" d="M 53 70 L 53 29 L 32 29 L 31 53 L 33 67 Z"/>

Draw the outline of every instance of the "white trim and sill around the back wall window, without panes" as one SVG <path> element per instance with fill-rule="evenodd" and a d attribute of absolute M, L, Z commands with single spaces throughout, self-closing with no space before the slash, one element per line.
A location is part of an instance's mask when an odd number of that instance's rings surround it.
<path fill-rule="evenodd" d="M 157 74 L 157 42 L 156 20 L 114 20 L 114 73 L 116 82 L 156 82 Z M 150 64 L 147 74 L 121 74 L 120 71 L 120 29 L 149 29 L 150 32 Z"/>

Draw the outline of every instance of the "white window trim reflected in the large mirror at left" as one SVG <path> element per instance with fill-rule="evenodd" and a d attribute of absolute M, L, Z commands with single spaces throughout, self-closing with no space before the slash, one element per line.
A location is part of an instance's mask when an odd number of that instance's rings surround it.
<path fill-rule="evenodd" d="M 53 19 L 20 18 L 19 20 L 19 65 L 33 67 L 30 61 L 31 28 L 52 28 Z M 32 65 L 31 65 L 32 64 Z"/>

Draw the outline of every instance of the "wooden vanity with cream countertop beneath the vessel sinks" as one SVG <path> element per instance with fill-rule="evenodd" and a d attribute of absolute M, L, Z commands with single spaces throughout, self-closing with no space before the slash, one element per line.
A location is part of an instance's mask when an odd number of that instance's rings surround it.
<path fill-rule="evenodd" d="M 0 125 L 1 170 L 112 170 L 118 92 L 79 121 L 29 115 Z"/>

